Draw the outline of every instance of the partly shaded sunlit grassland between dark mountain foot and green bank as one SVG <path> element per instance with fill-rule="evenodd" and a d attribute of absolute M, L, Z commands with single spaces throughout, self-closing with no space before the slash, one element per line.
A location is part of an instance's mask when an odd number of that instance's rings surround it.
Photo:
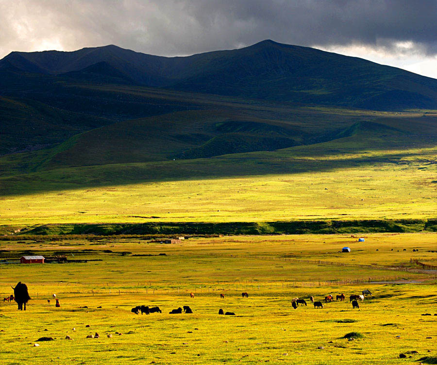
<path fill-rule="evenodd" d="M 392 160 L 380 155 L 376 162 L 360 161 L 375 160 L 375 154 L 361 153 L 358 158 L 333 152 L 290 158 L 282 151 L 255 152 L 253 161 L 252 154 L 246 154 L 240 159 L 92 166 L 23 175 L 7 184 L 11 193 L 17 185 L 21 190 L 28 185 L 29 192 L 0 198 L 0 224 L 436 217 L 436 150 L 411 150 L 404 156 L 394 150 Z M 262 174 L 264 163 L 277 173 Z M 177 166 L 180 178 L 174 176 L 172 166 Z M 217 175 L 233 169 L 237 176 L 196 178 L 203 169 Z M 154 179 L 166 174 L 173 177 Z M 110 179 L 120 183 L 104 183 Z M 78 188 L 77 182 L 85 187 Z M 45 191 L 33 193 L 33 184 Z"/>

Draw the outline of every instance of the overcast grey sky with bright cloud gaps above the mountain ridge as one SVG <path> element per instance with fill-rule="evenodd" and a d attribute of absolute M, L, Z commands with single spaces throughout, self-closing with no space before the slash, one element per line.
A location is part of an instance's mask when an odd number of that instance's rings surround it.
<path fill-rule="evenodd" d="M 264 39 L 437 78 L 437 0 L 0 0 L 0 58 L 108 44 L 189 55 Z"/>

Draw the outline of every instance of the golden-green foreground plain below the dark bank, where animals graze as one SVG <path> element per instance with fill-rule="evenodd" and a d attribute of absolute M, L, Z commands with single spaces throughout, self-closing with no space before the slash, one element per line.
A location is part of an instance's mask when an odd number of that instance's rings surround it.
<path fill-rule="evenodd" d="M 3 240 L 0 253 L 9 261 L 23 252 L 102 261 L 0 264 L 0 293 L 6 296 L 22 281 L 33 298 L 26 312 L 0 302 L 0 342 L 6 345 L 0 363 L 433 364 L 437 317 L 421 314 L 437 313 L 436 273 L 411 259 L 436 265 L 436 238 L 369 234 L 358 243 L 351 235 L 230 236 L 180 245 L 117 237 Z M 352 252 L 340 253 L 343 246 Z M 349 296 L 365 288 L 373 297 L 359 310 L 349 302 L 320 310 L 290 305 L 293 297 Z M 52 293 L 61 308 L 48 304 Z M 163 313 L 134 315 L 137 304 L 158 305 Z M 182 305 L 193 315 L 168 314 Z M 219 316 L 219 308 L 236 316 Z M 85 338 L 95 332 L 99 339 Z M 341 338 L 349 332 L 364 337 Z M 73 340 L 65 340 L 67 334 Z M 42 336 L 55 340 L 33 347 Z M 419 353 L 411 359 L 398 358 L 413 350 Z"/>

